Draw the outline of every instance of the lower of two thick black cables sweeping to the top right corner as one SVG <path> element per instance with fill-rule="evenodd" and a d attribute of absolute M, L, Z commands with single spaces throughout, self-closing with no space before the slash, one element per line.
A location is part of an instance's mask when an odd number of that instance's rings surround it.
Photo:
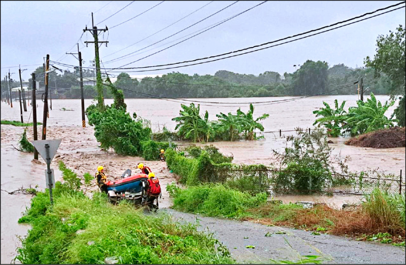
<path fill-rule="evenodd" d="M 252 53 L 252 52 L 257 52 L 257 51 L 265 50 L 265 49 L 268 49 L 268 48 L 280 46 L 280 45 L 287 44 L 287 43 L 291 43 L 291 42 L 295 42 L 295 41 L 298 41 L 298 40 L 306 39 L 307 37 L 311 37 L 311 36 L 318 35 L 318 34 L 321 34 L 321 33 L 327 32 L 327 31 L 331 31 L 331 30 L 334 30 L 334 29 L 337 29 L 337 28 L 341 28 L 341 27 L 345 27 L 345 26 L 348 26 L 348 25 L 351 25 L 351 24 L 355 24 L 355 23 L 361 22 L 361 21 L 363 21 L 363 20 L 367 20 L 367 19 L 370 19 L 370 18 L 373 18 L 373 17 L 377 17 L 377 16 L 380 16 L 380 15 L 383 15 L 383 14 L 386 14 L 386 13 L 389 13 L 389 12 L 392 12 L 392 11 L 395 11 L 395 10 L 398 10 L 398 9 L 402 9 L 402 8 L 404 8 L 404 7 L 396 8 L 396 9 L 393 9 L 393 10 L 390 10 L 390 11 L 387 11 L 387 12 L 384 12 L 384 13 L 381 13 L 381 14 L 378 14 L 378 15 L 375 15 L 375 16 L 371 16 L 371 17 L 368 17 L 368 18 L 364 18 L 364 19 L 361 19 L 361 20 L 358 20 L 358 21 L 354 21 L 354 22 L 351 22 L 351 23 L 348 23 L 348 24 L 345 24 L 345 25 L 342 25 L 342 26 L 338 26 L 338 27 L 335 27 L 335 28 L 327 29 L 327 30 L 324 30 L 324 31 L 321 31 L 321 32 L 317 32 L 317 33 L 308 35 L 308 36 L 300 37 L 300 38 L 295 39 L 295 40 L 292 40 L 292 41 L 288 41 L 288 42 L 284 42 L 284 43 L 280 43 L 280 44 L 276 44 L 276 45 L 272 45 L 272 46 L 260 48 L 260 49 L 257 49 L 257 50 L 253 50 L 253 51 L 249 51 L 249 52 L 245 52 L 245 53 L 241 53 L 241 54 L 231 55 L 231 56 L 227 56 L 227 57 L 223 57 L 223 58 L 219 58 L 219 59 L 215 59 L 215 60 L 210 60 L 210 61 L 205 61 L 205 62 L 199 62 L 199 63 L 192 63 L 192 64 L 187 64 L 187 65 L 175 66 L 175 67 L 166 67 L 166 68 L 158 68 L 158 69 L 150 69 L 150 70 L 138 70 L 138 71 L 127 71 L 127 72 L 147 72 L 147 71 L 158 71 L 158 70 L 166 70 L 166 69 L 175 69 L 175 68 L 180 68 L 180 67 L 186 67 L 186 66 L 191 66 L 191 65 L 198 65 L 198 64 L 204 64 L 204 63 L 219 61 L 219 60 L 223 60 L 223 59 L 227 59 L 227 58 L 231 58 L 231 57 L 236 57 L 236 56 L 240 56 L 240 55 L 244 55 L 244 54 L 248 54 L 248 53 Z M 217 57 L 217 56 L 215 56 L 215 57 Z M 198 59 L 196 59 L 196 60 L 198 60 Z M 149 66 L 144 66 L 144 67 L 128 67 L 128 68 L 111 68 L 111 69 L 112 69 L 112 70 L 115 70 L 115 69 L 124 70 L 124 69 L 136 69 L 136 68 L 148 68 L 148 67 L 149 67 Z M 109 72 L 119 72 L 119 71 L 111 71 L 111 70 L 110 70 Z"/>

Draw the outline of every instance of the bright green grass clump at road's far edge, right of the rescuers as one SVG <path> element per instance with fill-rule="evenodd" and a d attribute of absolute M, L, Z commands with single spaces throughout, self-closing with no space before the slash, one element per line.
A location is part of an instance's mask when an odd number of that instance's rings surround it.
<path fill-rule="evenodd" d="M 266 203 L 266 194 L 251 196 L 221 184 L 190 186 L 174 194 L 174 208 L 209 216 L 239 217 L 248 208 Z"/>

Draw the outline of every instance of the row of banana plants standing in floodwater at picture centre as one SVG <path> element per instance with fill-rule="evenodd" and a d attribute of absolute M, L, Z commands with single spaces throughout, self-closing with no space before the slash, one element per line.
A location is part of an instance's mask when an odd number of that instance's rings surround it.
<path fill-rule="evenodd" d="M 263 114 L 254 120 L 253 112 L 254 106 L 250 104 L 250 109 L 244 113 L 239 108 L 236 115 L 228 113 L 225 115 L 220 112 L 216 117 L 217 121 L 209 121 L 209 113 L 206 110 L 205 116 L 200 116 L 200 105 L 197 107 L 194 103 L 190 106 L 181 104 L 182 109 L 179 111 L 179 116 L 172 120 L 177 122 L 175 130 L 178 130 L 178 135 L 182 139 L 192 140 L 193 142 L 200 141 L 215 141 L 215 140 L 229 140 L 235 141 L 241 138 L 246 140 L 256 140 L 257 137 L 254 132 L 258 129 L 263 132 L 264 128 L 259 121 L 269 117 L 268 114 Z"/>

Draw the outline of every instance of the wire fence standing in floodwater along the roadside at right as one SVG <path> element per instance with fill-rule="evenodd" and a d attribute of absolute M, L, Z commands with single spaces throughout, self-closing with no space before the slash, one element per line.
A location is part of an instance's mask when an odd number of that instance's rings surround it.
<path fill-rule="evenodd" d="M 358 175 L 326 173 L 324 176 L 316 176 L 318 179 L 312 175 L 299 175 L 300 172 L 297 171 L 269 168 L 228 168 L 221 171 L 219 174 L 223 177 L 227 175 L 222 182 L 250 193 L 364 195 L 371 193 L 376 187 L 389 194 L 405 194 L 406 190 L 401 170 L 398 176 L 367 171 Z M 297 179 L 293 179 L 294 177 Z"/>

